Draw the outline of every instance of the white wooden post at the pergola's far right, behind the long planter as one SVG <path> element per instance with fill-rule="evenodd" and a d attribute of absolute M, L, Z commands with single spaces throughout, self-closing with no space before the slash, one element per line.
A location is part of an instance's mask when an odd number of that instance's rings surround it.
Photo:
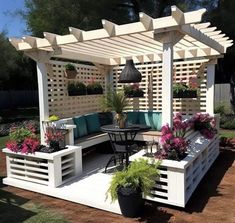
<path fill-rule="evenodd" d="M 206 112 L 211 115 L 214 114 L 215 64 L 213 61 L 207 65 Z"/>

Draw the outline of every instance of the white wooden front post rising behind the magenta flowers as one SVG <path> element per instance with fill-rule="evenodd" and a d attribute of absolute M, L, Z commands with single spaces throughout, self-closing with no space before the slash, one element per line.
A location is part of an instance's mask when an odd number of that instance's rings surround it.
<path fill-rule="evenodd" d="M 163 43 L 162 124 L 173 125 L 173 43 Z"/>

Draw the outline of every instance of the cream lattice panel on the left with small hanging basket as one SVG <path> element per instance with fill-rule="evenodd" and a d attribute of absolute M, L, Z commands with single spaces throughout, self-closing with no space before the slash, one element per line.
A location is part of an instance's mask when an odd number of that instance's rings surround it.
<path fill-rule="evenodd" d="M 80 81 L 87 85 L 93 79 L 100 82 L 105 89 L 104 75 L 95 66 L 75 64 L 78 75 L 76 79 L 69 80 L 65 76 L 66 64 L 52 61 L 47 66 L 49 115 L 55 114 L 66 118 L 100 111 L 102 95 L 68 96 L 67 86 L 69 81 Z"/>

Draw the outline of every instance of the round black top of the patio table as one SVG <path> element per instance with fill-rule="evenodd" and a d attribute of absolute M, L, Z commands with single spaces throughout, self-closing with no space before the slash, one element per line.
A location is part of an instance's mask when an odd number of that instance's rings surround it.
<path fill-rule="evenodd" d="M 101 126 L 101 130 L 103 132 L 141 132 L 141 131 L 147 131 L 149 129 L 150 129 L 149 126 L 142 124 L 135 124 L 135 125 L 131 124 L 125 128 L 119 128 L 117 124 Z"/>

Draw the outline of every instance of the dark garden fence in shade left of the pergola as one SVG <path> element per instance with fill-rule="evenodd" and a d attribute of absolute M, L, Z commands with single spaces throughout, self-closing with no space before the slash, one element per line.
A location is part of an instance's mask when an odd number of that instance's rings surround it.
<path fill-rule="evenodd" d="M 38 91 L 0 91 L 0 109 L 38 107 Z"/>

